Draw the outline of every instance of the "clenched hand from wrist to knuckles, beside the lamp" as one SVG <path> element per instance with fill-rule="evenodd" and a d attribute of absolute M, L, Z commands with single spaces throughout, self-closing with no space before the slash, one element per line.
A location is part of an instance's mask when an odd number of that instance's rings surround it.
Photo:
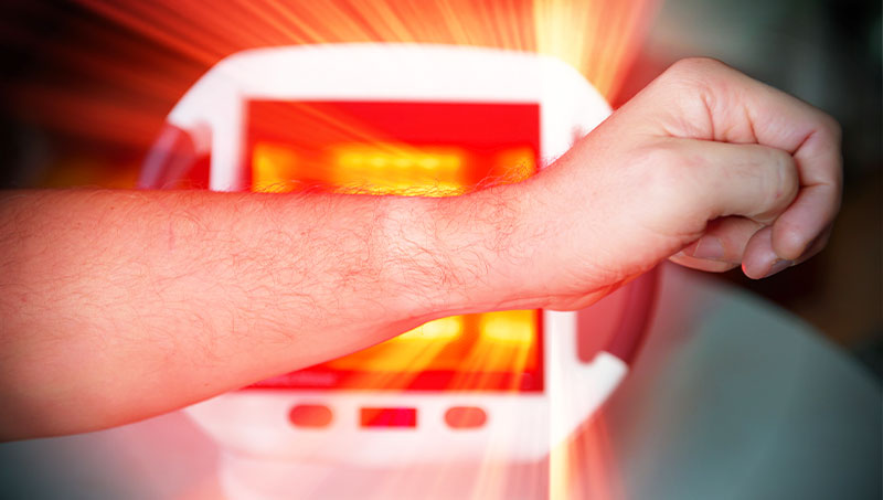
<path fill-rule="evenodd" d="M 552 308 L 584 306 L 666 258 L 763 278 L 827 243 L 840 129 L 720 62 L 684 60 L 529 189 L 551 214 L 540 223 L 551 252 L 536 256 L 562 270 Z"/>

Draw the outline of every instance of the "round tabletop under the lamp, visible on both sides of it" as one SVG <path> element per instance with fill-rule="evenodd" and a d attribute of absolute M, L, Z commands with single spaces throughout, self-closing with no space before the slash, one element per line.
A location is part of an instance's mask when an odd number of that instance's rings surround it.
<path fill-rule="evenodd" d="M 671 265 L 661 286 L 632 372 L 572 443 L 571 498 L 881 498 L 879 381 L 799 319 L 742 290 Z M 180 412 L 7 443 L 0 497 L 221 498 L 220 456 Z M 338 469 L 311 498 L 445 498 L 446 478 L 470 475 L 466 497 L 549 496 L 547 460 L 492 474 L 470 464 Z"/>

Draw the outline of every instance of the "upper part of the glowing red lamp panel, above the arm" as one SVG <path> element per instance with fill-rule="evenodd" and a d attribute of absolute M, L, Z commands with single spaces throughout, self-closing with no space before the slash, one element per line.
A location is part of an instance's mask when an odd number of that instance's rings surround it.
<path fill-rule="evenodd" d="M 248 104 L 254 191 L 454 195 L 536 170 L 535 104 Z"/>

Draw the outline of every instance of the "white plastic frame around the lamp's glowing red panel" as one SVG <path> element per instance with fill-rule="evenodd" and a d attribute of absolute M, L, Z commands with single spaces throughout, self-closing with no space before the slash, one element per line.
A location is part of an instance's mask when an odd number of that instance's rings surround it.
<path fill-rule="evenodd" d="M 198 152 L 211 150 L 210 188 L 240 191 L 243 110 L 248 99 L 540 105 L 541 164 L 549 164 L 604 120 L 610 108 L 571 66 L 529 53 L 489 49 L 343 44 L 260 49 L 217 63 L 179 102 L 168 121 L 187 130 Z M 498 456 L 543 457 L 583 423 L 627 372 L 599 353 L 577 359 L 573 312 L 543 311 L 542 393 L 245 390 L 188 408 L 231 450 L 275 459 L 393 465 Z M 325 428 L 288 421 L 294 405 L 333 414 Z M 362 428 L 361 407 L 413 407 L 415 428 Z M 449 428 L 451 406 L 488 416 L 474 429 Z"/>

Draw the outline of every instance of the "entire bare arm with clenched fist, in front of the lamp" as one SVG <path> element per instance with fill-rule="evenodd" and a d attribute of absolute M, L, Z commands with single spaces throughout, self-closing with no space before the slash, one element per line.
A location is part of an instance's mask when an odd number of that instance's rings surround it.
<path fill-rule="evenodd" d="M 762 278 L 826 244 L 840 131 L 711 60 L 535 177 L 448 199 L 0 194 L 0 437 L 106 428 L 424 321 L 577 309 L 661 260 Z"/>

